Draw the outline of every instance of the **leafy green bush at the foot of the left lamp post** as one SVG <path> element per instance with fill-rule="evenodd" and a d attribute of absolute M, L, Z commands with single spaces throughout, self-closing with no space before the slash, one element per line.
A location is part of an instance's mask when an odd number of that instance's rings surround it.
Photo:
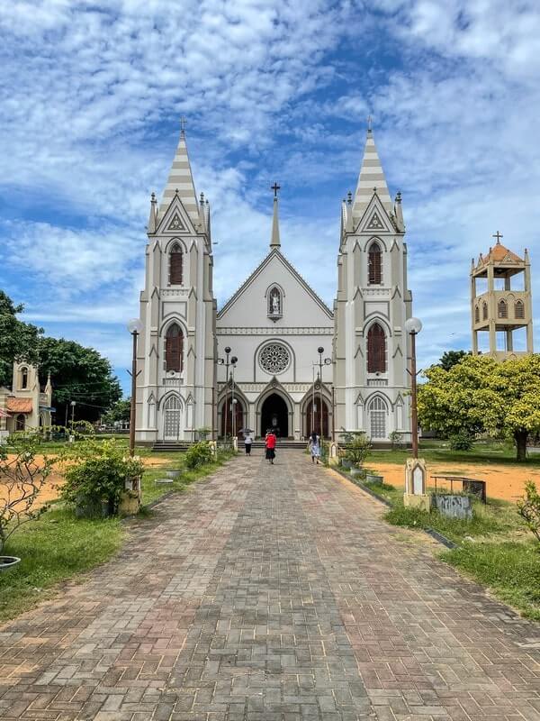
<path fill-rule="evenodd" d="M 64 457 L 68 466 L 61 497 L 79 507 L 105 503 L 112 514 L 118 512 L 126 480 L 138 478 L 143 471 L 142 462 L 126 456 L 125 446 L 115 439 L 87 439 Z"/>

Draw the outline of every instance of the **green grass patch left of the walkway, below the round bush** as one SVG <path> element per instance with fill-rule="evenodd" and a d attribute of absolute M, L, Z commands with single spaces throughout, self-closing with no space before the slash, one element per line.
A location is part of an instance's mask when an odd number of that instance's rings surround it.
<path fill-rule="evenodd" d="M 0 573 L 0 621 L 48 598 L 59 581 L 108 561 L 120 548 L 122 536 L 119 519 L 78 519 L 66 508 L 50 510 L 22 526 L 4 548 L 4 555 L 22 561 Z"/>

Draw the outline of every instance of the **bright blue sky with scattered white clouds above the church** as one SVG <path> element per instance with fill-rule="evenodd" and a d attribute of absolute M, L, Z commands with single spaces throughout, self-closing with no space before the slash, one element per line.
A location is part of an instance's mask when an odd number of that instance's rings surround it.
<path fill-rule="evenodd" d="M 282 246 L 331 306 L 339 204 L 374 132 L 403 195 L 424 367 L 471 346 L 469 269 L 500 230 L 540 292 L 540 9 L 502 0 L 19 0 L 0 8 L 0 287 L 127 387 L 148 199 L 178 118 L 210 198 L 220 305 Z M 538 322 L 536 320 L 536 326 Z M 536 346 L 539 339 L 536 335 Z"/>

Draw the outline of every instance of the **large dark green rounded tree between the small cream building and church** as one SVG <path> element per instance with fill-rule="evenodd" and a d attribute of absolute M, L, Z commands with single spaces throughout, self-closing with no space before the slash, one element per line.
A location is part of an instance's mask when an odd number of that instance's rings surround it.
<path fill-rule="evenodd" d="M 121 398 L 120 383 L 109 360 L 94 348 L 64 338 L 41 338 L 40 381 L 52 378 L 52 404 L 58 423 L 71 417 L 69 404 L 76 402 L 76 420 L 95 421 Z"/>

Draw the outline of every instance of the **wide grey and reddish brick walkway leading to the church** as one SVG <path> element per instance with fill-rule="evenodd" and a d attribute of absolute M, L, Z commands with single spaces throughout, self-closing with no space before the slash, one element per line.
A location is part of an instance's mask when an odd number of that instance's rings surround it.
<path fill-rule="evenodd" d="M 540 721 L 540 626 L 300 452 L 130 529 L 0 630 L 2 721 Z"/>

